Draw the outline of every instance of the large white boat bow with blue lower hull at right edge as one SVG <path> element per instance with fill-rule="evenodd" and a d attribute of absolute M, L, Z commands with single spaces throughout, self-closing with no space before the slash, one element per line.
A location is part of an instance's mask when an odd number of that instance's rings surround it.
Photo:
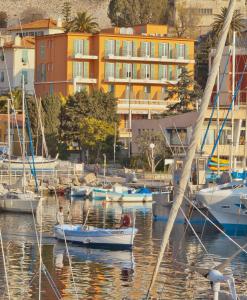
<path fill-rule="evenodd" d="M 231 182 L 201 190 L 196 199 L 226 229 L 247 226 L 247 187 Z"/>

